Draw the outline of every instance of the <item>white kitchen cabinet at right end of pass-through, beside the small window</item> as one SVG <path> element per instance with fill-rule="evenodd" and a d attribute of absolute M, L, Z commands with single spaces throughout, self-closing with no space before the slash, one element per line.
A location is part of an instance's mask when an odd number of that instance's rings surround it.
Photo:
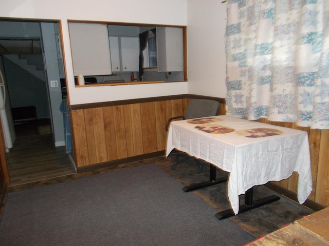
<path fill-rule="evenodd" d="M 156 42 L 158 72 L 183 71 L 182 28 L 157 27 Z"/>

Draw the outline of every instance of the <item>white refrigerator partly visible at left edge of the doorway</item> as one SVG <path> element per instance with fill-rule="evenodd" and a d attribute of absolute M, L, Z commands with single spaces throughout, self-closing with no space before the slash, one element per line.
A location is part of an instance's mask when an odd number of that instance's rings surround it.
<path fill-rule="evenodd" d="M 9 152 L 16 140 L 16 133 L 14 120 L 11 113 L 8 88 L 6 86 L 5 68 L 2 56 L 0 56 L 0 117 L 4 133 L 6 152 Z"/>

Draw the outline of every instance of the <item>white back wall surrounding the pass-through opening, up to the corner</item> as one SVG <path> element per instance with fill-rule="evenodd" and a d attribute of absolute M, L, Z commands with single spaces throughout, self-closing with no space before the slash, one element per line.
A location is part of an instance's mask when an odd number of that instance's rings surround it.
<path fill-rule="evenodd" d="M 76 88 L 68 34 L 68 19 L 104 22 L 187 25 L 187 0 L 15 0 L 3 1 L 1 17 L 61 20 L 63 52 L 70 104 L 188 93 L 187 82 L 165 85 Z"/>

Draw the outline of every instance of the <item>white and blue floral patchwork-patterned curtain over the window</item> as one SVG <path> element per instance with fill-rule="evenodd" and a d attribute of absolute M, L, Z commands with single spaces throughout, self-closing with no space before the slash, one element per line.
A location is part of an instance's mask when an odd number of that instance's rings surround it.
<path fill-rule="evenodd" d="M 227 114 L 329 129 L 329 0 L 228 0 Z"/>

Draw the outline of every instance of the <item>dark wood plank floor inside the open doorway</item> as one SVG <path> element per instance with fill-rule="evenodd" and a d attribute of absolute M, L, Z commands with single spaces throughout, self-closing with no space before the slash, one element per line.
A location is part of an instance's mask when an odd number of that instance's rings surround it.
<path fill-rule="evenodd" d="M 75 173 L 65 146 L 55 147 L 47 121 L 15 126 L 17 139 L 6 154 L 10 187 Z"/>

